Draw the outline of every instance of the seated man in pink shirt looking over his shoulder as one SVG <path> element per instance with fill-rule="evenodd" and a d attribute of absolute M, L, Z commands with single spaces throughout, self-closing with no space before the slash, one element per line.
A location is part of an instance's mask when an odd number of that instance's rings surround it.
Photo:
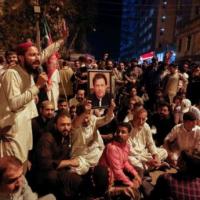
<path fill-rule="evenodd" d="M 128 160 L 130 147 L 127 141 L 130 131 L 129 123 L 124 122 L 118 125 L 114 141 L 104 149 L 99 165 L 110 169 L 114 183 L 137 188 L 141 184 L 141 178 Z M 130 174 L 130 177 L 126 172 Z"/>

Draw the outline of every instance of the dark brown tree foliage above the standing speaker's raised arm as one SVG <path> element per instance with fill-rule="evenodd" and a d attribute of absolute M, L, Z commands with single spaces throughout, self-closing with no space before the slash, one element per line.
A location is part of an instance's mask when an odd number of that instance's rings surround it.
<path fill-rule="evenodd" d="M 19 42 L 36 39 L 34 0 L 4 0 L 0 16 L 0 45 L 13 48 Z M 96 0 L 40 0 L 41 14 L 46 17 L 53 40 L 60 37 L 59 23 L 65 19 L 70 30 L 68 46 L 87 50 L 86 35 L 94 23 Z M 42 26 L 42 25 L 41 25 Z"/>

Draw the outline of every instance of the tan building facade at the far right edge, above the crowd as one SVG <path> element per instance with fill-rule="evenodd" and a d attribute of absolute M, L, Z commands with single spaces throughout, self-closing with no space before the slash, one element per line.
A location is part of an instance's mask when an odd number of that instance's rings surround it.
<path fill-rule="evenodd" d="M 200 62 L 200 1 L 179 0 L 177 4 L 177 60 Z"/>

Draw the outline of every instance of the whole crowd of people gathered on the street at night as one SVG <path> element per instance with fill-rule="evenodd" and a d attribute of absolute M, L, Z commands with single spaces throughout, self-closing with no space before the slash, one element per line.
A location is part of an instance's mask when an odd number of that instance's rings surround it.
<path fill-rule="evenodd" d="M 200 65 L 52 59 L 63 43 L 0 57 L 0 199 L 200 199 Z"/>

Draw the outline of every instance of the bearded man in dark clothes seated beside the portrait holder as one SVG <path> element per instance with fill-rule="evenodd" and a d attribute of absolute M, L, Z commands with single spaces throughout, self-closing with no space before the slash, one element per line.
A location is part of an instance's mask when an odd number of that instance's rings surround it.
<path fill-rule="evenodd" d="M 36 184 L 38 189 L 54 191 L 64 199 L 76 199 L 82 178 L 70 171 L 79 166 L 78 159 L 70 158 L 71 119 L 61 112 L 55 117 L 54 128 L 42 134 L 36 148 Z M 43 191 L 41 191 L 43 192 Z"/>

